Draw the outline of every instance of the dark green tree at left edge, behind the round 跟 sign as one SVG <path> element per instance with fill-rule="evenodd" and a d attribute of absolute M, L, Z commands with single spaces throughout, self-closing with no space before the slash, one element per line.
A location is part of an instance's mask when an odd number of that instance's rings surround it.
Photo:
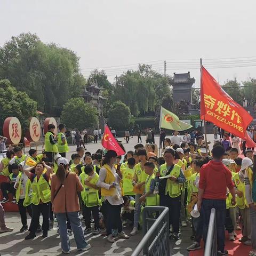
<path fill-rule="evenodd" d="M 29 117 L 37 115 L 37 103 L 25 92 L 17 91 L 7 79 L 0 80 L 0 134 L 5 118 L 17 117 L 23 135 L 29 125 Z"/>

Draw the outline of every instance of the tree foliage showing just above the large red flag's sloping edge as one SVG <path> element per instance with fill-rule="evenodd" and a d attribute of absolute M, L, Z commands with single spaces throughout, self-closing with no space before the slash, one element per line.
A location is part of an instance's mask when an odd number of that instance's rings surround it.
<path fill-rule="evenodd" d="M 223 90 L 227 92 L 231 98 L 233 98 L 233 100 L 243 106 L 243 88 L 241 87 L 241 84 L 236 81 L 236 79 L 227 81 L 222 85 L 222 87 Z"/>

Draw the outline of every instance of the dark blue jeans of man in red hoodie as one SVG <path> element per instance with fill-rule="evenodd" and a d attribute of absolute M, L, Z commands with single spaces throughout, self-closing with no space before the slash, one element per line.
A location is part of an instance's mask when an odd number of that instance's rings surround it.
<path fill-rule="evenodd" d="M 217 245 L 218 251 L 223 252 L 225 247 L 225 220 L 226 220 L 226 201 L 218 199 L 203 199 L 201 214 L 203 218 L 203 238 L 206 242 L 208 225 L 212 208 L 216 210 L 217 225 Z"/>

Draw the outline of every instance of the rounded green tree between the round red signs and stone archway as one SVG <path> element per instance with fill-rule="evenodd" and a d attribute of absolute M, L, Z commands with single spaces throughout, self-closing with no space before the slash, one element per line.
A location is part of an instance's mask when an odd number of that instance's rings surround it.
<path fill-rule="evenodd" d="M 65 123 L 69 129 L 98 127 L 98 111 L 89 103 L 85 103 L 82 98 L 73 98 L 63 106 L 61 112 L 61 122 Z"/>

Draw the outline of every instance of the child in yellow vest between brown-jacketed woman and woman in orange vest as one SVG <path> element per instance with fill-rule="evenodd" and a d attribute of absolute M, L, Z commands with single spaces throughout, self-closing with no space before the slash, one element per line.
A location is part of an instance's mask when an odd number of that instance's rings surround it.
<path fill-rule="evenodd" d="M 99 181 L 99 175 L 93 171 L 92 165 L 87 164 L 84 166 L 84 172 L 79 175 L 79 179 L 84 187 L 84 190 L 81 192 L 86 226 L 84 234 L 91 233 L 91 213 L 94 219 L 93 234 L 99 234 L 99 187 L 96 185 Z"/>

